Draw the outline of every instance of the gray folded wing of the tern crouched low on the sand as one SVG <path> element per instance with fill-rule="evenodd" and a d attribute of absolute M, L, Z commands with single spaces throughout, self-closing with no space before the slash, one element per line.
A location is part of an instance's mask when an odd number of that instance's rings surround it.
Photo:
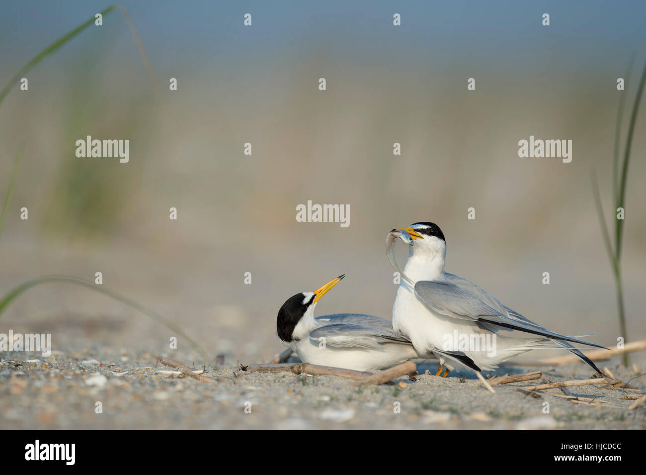
<path fill-rule="evenodd" d="M 408 338 L 393 331 L 390 321 L 372 315 L 340 313 L 318 317 L 316 321 L 322 326 L 309 333 L 312 344 L 319 344 L 321 338 L 326 346 L 335 348 L 381 349 L 384 343 L 411 344 Z"/>

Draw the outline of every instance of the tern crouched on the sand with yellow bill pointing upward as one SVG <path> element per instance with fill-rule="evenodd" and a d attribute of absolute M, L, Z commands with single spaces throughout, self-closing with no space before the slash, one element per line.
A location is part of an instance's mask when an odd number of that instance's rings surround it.
<path fill-rule="evenodd" d="M 278 338 L 304 363 L 349 370 L 378 370 L 421 357 L 408 338 L 393 332 L 390 320 L 361 313 L 314 317 L 317 302 L 344 277 L 287 299 L 276 318 Z"/>

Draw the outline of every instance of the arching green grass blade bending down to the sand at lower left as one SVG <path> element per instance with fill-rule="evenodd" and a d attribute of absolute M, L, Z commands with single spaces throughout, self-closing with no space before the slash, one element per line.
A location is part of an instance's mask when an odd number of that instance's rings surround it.
<path fill-rule="evenodd" d="M 83 287 L 95 290 L 99 293 L 103 293 L 104 295 L 108 295 L 109 297 L 112 297 L 112 299 L 120 301 L 121 303 L 126 304 L 127 306 L 134 308 L 135 310 L 140 311 L 144 315 L 151 317 L 154 321 L 160 322 L 161 324 L 167 326 L 167 328 L 172 330 L 172 332 L 176 333 L 177 335 L 180 335 L 180 337 L 182 337 L 187 342 L 189 342 L 189 344 L 191 345 L 191 348 L 193 348 L 193 350 L 195 350 L 204 359 L 205 362 L 211 361 L 211 359 L 209 359 L 209 355 L 207 355 L 206 352 L 202 350 L 200 345 L 198 345 L 191 337 L 189 337 L 189 335 L 183 332 L 182 328 L 180 328 L 179 326 L 171 322 L 169 319 L 166 319 L 156 311 L 151 310 L 141 305 L 140 303 L 135 302 L 132 299 L 129 299 L 129 297 L 125 297 L 120 293 L 107 290 L 102 286 L 98 286 L 94 284 L 94 282 L 90 282 L 89 280 L 79 279 L 78 277 L 70 277 L 68 275 L 46 275 L 44 277 L 38 277 L 37 279 L 27 280 L 26 282 L 23 282 L 19 286 L 10 290 L 8 293 L 6 293 L 6 295 L 2 299 L 0 299 L 0 316 L 6 310 L 7 306 L 15 299 L 17 299 L 17 297 L 19 297 L 26 290 L 29 290 L 30 288 L 37 286 L 39 284 L 47 284 L 48 282 L 67 282 L 68 284 L 83 286 Z"/>

